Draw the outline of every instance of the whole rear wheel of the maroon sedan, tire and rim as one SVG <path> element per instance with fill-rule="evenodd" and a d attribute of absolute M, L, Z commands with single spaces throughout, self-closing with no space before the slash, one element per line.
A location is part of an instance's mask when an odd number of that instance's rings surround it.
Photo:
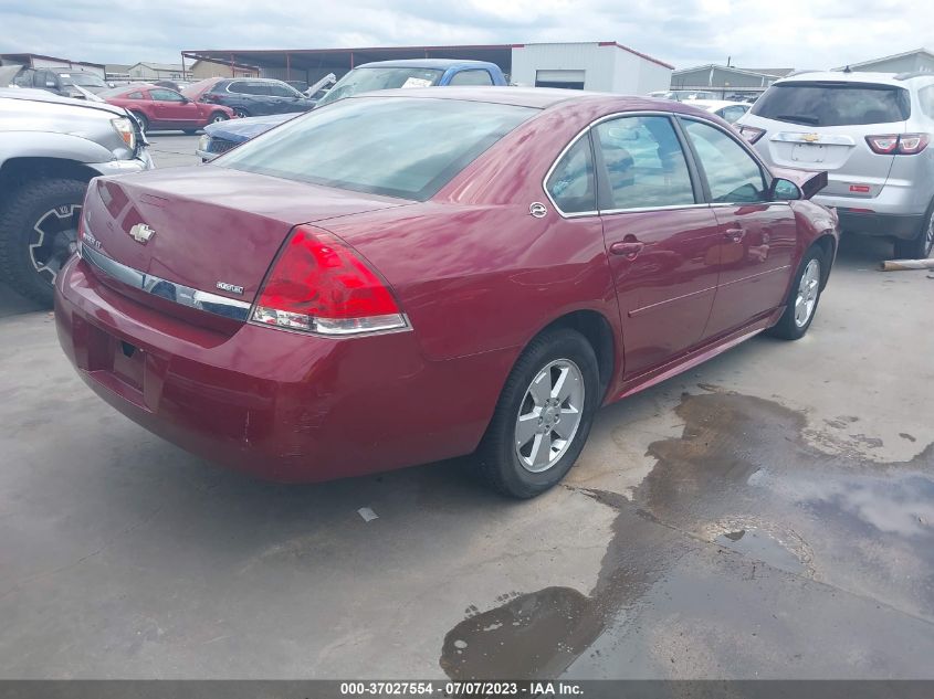
<path fill-rule="evenodd" d="M 564 478 L 584 448 L 600 404 L 597 356 L 569 328 L 548 330 L 510 373 L 478 451 L 480 473 L 514 498 L 533 498 Z"/>

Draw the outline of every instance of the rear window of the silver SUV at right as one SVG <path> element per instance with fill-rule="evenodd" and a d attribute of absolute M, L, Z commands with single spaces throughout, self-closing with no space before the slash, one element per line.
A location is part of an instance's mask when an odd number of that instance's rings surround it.
<path fill-rule="evenodd" d="M 781 83 L 769 87 L 752 113 L 805 126 L 891 124 L 911 116 L 911 102 L 906 89 L 890 85 Z"/>

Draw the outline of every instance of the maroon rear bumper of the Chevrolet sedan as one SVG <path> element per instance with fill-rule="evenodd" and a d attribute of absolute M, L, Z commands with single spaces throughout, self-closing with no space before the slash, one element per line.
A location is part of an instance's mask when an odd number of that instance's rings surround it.
<path fill-rule="evenodd" d="M 120 413 L 281 481 L 470 453 L 513 359 L 430 362 L 413 332 L 332 339 L 248 324 L 224 335 L 130 300 L 78 257 L 59 274 L 55 319 L 82 380 Z"/>

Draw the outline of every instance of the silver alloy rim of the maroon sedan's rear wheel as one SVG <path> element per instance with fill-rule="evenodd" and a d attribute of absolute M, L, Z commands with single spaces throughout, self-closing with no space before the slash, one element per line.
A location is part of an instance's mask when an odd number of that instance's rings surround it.
<path fill-rule="evenodd" d="M 564 456 L 584 414 L 584 374 L 569 359 L 546 364 L 522 400 L 515 426 L 515 453 L 531 473 L 549 469 Z"/>

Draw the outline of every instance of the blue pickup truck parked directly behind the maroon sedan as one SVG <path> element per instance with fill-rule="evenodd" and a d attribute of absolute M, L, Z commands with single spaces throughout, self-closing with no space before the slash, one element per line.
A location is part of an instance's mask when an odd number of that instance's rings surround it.
<path fill-rule="evenodd" d="M 318 81 L 309 89 L 319 92 L 318 85 L 333 78 L 333 74 Z M 325 106 L 344 97 L 351 97 L 361 92 L 389 89 L 392 87 L 428 87 L 456 85 L 505 85 L 506 77 L 495 63 L 485 61 L 450 61 L 440 59 L 416 59 L 407 61 L 379 61 L 365 63 L 347 73 L 325 96 L 317 99 L 316 106 Z M 234 146 L 242 144 L 274 126 L 288 120 L 292 116 L 282 115 L 253 117 L 234 124 L 211 126 L 204 129 L 204 136 L 198 144 L 197 153 L 202 161 L 211 160 Z"/>

